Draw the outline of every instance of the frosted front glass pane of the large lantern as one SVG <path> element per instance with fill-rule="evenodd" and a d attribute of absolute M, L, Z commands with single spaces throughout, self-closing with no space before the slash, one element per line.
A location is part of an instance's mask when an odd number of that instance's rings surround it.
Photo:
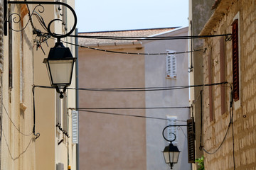
<path fill-rule="evenodd" d="M 74 60 L 48 60 L 51 81 L 53 85 L 63 85 L 71 83 Z"/>

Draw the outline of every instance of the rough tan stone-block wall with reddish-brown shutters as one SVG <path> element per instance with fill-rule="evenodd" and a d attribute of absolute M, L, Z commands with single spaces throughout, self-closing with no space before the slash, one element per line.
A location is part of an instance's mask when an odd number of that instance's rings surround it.
<path fill-rule="evenodd" d="M 224 2 L 223 2 L 224 1 Z M 223 0 L 225 3 L 227 0 Z M 221 3 L 218 8 L 221 8 Z M 256 169 L 256 1 L 234 0 L 228 8 L 223 8 L 217 25 L 211 35 L 232 33 L 235 15 L 240 12 L 240 107 L 233 107 L 234 123 L 230 123 L 230 84 L 233 82 L 232 41 L 225 41 L 225 85 L 226 108 L 221 114 L 220 85 L 213 86 L 213 121 L 210 122 L 209 90 L 203 91 L 203 145 L 209 152 L 215 152 L 225 133 L 228 134 L 222 147 L 214 154 L 205 155 L 206 169 L 234 169 L 233 135 L 235 147 L 235 169 Z M 216 23 L 215 23 L 216 24 Z M 224 38 L 225 39 L 225 38 Z M 208 69 L 211 67 L 212 83 L 220 82 L 220 37 L 207 38 L 207 48 L 203 55 L 204 83 L 209 83 Z M 209 55 L 211 65 L 209 66 Z M 234 131 L 233 131 L 234 130 Z"/>

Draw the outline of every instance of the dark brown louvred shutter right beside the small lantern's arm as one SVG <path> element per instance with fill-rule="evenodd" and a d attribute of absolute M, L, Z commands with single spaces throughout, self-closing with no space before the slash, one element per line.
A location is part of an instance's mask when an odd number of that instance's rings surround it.
<path fill-rule="evenodd" d="M 193 119 L 187 120 L 188 125 L 188 163 L 195 162 L 195 123 Z"/>

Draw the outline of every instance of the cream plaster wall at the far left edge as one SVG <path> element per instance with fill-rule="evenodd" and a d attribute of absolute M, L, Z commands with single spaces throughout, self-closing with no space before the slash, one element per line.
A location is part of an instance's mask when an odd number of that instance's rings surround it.
<path fill-rule="evenodd" d="M 20 13 L 22 6 L 9 6 L 11 13 Z M 28 17 L 23 18 L 23 23 Z M 22 22 L 22 21 L 21 21 Z M 21 30 L 21 23 L 12 28 Z M 9 33 L 8 33 L 9 34 Z M 4 72 L 1 74 L 1 169 L 35 169 L 33 130 L 33 41 L 32 30 L 12 31 L 11 51 L 9 36 L 4 36 Z M 9 88 L 9 52 L 12 52 L 13 86 Z"/>

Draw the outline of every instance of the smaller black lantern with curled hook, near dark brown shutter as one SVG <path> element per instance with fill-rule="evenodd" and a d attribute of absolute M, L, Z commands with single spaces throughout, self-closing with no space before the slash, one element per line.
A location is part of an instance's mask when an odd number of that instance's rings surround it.
<path fill-rule="evenodd" d="M 170 126 L 172 126 L 172 125 L 166 126 L 166 128 L 169 128 Z M 166 130 L 166 128 L 164 128 L 164 130 Z M 163 137 L 164 137 L 164 130 L 162 132 Z M 174 140 L 176 140 L 176 135 L 172 132 L 171 132 L 171 134 L 174 135 Z M 170 142 L 170 145 L 166 146 L 164 148 L 164 151 L 163 151 L 164 160 L 165 160 L 166 164 L 169 164 L 171 169 L 173 169 L 174 164 L 176 164 L 178 162 L 178 156 L 179 156 L 180 151 L 178 150 L 178 147 L 176 147 L 172 144 L 172 142 L 174 142 L 174 140 L 168 140 L 168 139 L 166 139 L 166 137 L 164 137 L 164 140 Z"/>

